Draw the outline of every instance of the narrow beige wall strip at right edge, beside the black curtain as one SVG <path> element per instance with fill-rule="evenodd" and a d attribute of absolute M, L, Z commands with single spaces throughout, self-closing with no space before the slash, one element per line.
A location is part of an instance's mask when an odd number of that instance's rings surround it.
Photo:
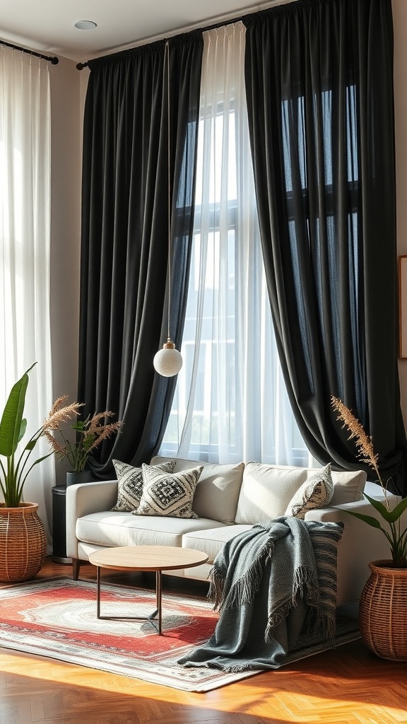
<path fill-rule="evenodd" d="M 398 255 L 407 254 L 407 2 L 393 0 Z M 407 425 L 407 359 L 398 361 L 400 400 Z"/>

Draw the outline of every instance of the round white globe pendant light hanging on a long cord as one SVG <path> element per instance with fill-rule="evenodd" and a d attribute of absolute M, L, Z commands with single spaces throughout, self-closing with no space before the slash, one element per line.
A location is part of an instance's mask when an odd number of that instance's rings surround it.
<path fill-rule="evenodd" d="M 166 73 L 167 70 L 167 73 Z M 154 355 L 154 369 L 163 377 L 174 377 L 182 367 L 182 357 L 169 333 L 169 311 L 171 305 L 171 181 L 170 181 L 170 152 L 169 152 L 169 46 L 168 41 L 164 49 L 164 80 L 167 80 L 167 130 L 168 130 L 168 339 L 161 350 Z"/>

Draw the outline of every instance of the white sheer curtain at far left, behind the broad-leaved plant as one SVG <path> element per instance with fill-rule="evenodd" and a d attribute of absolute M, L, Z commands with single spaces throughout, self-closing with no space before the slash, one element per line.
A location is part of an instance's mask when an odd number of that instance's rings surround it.
<path fill-rule="evenodd" d="M 14 382 L 37 362 L 26 398 L 27 440 L 52 404 L 50 144 L 46 61 L 0 46 L 0 412 Z M 40 445 L 33 459 L 49 451 L 42 440 Z M 49 458 L 34 468 L 24 489 L 25 500 L 38 502 L 46 527 L 53 485 Z"/>

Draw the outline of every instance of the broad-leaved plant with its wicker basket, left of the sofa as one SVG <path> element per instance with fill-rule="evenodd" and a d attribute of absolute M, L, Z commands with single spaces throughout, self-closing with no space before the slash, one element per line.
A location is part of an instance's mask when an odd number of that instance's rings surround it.
<path fill-rule="evenodd" d="M 33 451 L 47 430 L 77 415 L 78 405 L 61 408 L 54 403 L 43 425 L 25 444 L 27 429 L 23 417 L 28 373 L 32 365 L 12 387 L 0 421 L 0 580 L 26 581 L 38 573 L 46 557 L 46 531 L 38 516 L 38 504 L 23 501 L 24 484 L 30 471 L 52 455 L 33 459 Z M 2 459 L 4 458 L 4 460 Z"/>

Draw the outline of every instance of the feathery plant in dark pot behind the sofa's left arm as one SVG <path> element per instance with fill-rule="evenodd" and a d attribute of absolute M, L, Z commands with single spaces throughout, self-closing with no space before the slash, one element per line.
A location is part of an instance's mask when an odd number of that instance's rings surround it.
<path fill-rule="evenodd" d="M 63 405 L 66 400 L 67 397 L 62 397 L 59 400 L 60 405 Z M 83 403 L 80 403 L 79 406 L 82 407 Z M 57 426 L 54 430 L 46 430 L 46 438 L 56 457 L 59 460 L 67 460 L 70 465 L 71 469 L 67 472 L 67 485 L 91 480 L 91 471 L 86 469 L 89 455 L 101 445 L 101 442 L 116 433 L 122 424 L 120 421 L 106 422 L 113 416 L 114 413 L 106 410 L 94 413 L 93 416 L 88 415 L 85 420 L 77 418 L 76 423 L 70 426 L 75 432 L 74 442 L 67 438 L 61 426 Z"/>

